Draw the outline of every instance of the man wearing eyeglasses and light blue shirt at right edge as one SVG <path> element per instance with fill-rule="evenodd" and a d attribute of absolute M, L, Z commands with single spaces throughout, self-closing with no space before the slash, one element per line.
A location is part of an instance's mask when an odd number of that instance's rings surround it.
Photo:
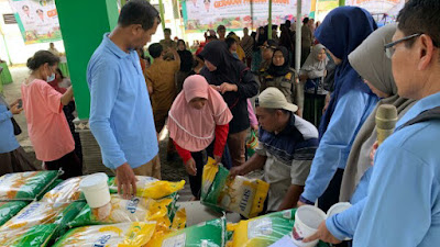
<path fill-rule="evenodd" d="M 353 246 L 439 246 L 440 1 L 410 0 L 398 15 L 392 59 L 398 94 L 418 102 L 377 149 L 367 197 L 323 222 L 305 242 Z"/>

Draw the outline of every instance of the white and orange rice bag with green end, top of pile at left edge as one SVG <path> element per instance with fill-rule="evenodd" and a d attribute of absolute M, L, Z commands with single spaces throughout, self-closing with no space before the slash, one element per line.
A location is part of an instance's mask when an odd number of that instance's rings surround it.
<path fill-rule="evenodd" d="M 61 171 L 28 171 L 0 177 L 0 200 L 34 200 L 48 188 Z"/>

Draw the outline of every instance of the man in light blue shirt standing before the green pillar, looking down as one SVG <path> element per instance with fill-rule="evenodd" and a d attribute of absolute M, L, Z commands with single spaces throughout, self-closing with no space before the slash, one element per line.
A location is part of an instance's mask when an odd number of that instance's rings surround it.
<path fill-rule="evenodd" d="M 90 130 L 125 198 L 135 192 L 135 173 L 160 177 L 153 113 L 135 52 L 151 41 L 160 22 L 157 10 L 147 1 L 129 1 L 118 26 L 105 34 L 87 68 Z"/>

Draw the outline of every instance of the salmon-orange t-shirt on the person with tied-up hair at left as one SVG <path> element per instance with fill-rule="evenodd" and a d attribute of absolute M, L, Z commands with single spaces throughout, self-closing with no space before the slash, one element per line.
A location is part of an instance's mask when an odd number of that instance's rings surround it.
<path fill-rule="evenodd" d="M 46 81 L 21 86 L 28 132 L 38 160 L 53 161 L 72 153 L 75 141 L 63 112 L 62 96 Z"/>

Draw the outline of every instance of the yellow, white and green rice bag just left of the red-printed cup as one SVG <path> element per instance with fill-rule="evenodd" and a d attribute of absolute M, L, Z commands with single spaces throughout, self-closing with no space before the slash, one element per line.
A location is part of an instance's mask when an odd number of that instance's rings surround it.
<path fill-rule="evenodd" d="M 266 247 L 292 233 L 296 209 L 266 214 L 229 225 L 233 232 L 232 247 Z M 328 247 L 319 243 L 318 247 Z"/>

